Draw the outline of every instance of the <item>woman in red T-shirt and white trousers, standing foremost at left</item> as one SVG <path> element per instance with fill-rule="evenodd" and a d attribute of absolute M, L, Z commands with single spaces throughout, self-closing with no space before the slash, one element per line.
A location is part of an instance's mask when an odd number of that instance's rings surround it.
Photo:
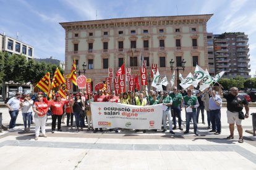
<path fill-rule="evenodd" d="M 35 140 L 38 140 L 40 127 L 43 137 L 46 136 L 45 126 L 47 119 L 47 111 L 49 110 L 49 104 L 43 101 L 43 95 L 37 95 L 37 101 L 33 105 L 33 111 L 35 112 Z"/>

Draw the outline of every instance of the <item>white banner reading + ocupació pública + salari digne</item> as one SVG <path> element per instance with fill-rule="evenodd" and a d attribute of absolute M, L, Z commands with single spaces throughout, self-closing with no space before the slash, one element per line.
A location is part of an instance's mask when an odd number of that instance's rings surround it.
<path fill-rule="evenodd" d="M 112 102 L 92 102 L 93 127 L 161 129 L 162 107 L 162 104 L 141 107 Z"/>

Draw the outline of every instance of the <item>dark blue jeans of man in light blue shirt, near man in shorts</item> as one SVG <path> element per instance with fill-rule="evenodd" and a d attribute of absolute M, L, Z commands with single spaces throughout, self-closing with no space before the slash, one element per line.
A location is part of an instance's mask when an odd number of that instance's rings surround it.
<path fill-rule="evenodd" d="M 213 131 L 221 132 L 221 110 L 210 110 L 211 126 Z"/>

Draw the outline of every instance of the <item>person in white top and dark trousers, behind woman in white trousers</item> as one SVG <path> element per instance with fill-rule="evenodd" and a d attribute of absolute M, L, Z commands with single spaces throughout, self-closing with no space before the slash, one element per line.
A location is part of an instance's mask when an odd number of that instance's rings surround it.
<path fill-rule="evenodd" d="M 31 116 L 32 116 L 33 100 L 30 99 L 30 94 L 25 94 L 22 100 L 22 117 L 24 123 L 23 132 L 30 131 Z M 28 125 L 28 128 L 27 128 Z"/>

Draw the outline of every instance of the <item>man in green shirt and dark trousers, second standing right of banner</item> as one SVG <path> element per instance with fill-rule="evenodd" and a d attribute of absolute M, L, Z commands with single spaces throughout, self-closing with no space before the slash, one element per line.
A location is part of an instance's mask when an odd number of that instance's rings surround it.
<path fill-rule="evenodd" d="M 177 92 L 177 87 L 173 87 L 173 92 L 169 94 L 169 96 L 173 99 L 173 105 L 171 108 L 173 109 L 173 129 L 176 129 L 176 116 L 178 117 L 178 124 L 179 124 L 179 129 L 183 131 L 181 127 L 181 110 L 183 106 L 183 97 L 182 95 Z"/>

